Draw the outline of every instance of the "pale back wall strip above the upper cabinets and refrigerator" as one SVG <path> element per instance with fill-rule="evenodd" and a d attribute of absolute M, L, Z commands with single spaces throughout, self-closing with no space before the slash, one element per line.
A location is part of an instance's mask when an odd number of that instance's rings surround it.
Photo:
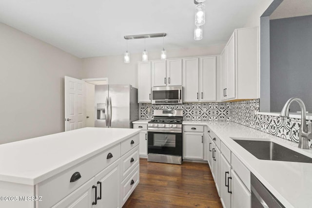
<path fill-rule="evenodd" d="M 167 51 L 167 58 L 218 55 L 224 45 Z M 131 53 L 131 52 L 130 52 Z M 160 51 L 148 52 L 149 60 L 160 59 Z M 130 63 L 123 62 L 123 55 L 82 59 L 82 78 L 107 77 L 109 84 L 131 84 L 137 87 L 137 61 L 141 54 L 131 54 Z"/>

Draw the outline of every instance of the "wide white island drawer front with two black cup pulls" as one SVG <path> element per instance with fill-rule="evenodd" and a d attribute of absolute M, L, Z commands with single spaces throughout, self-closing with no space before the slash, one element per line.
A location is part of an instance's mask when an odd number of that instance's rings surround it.
<path fill-rule="evenodd" d="M 107 157 L 113 157 L 107 159 Z M 94 177 L 98 172 L 120 158 L 120 144 L 117 144 L 51 178 L 36 185 L 36 196 L 45 196 L 36 202 L 36 208 L 52 207 L 82 184 Z M 70 182 L 74 173 L 79 172 L 81 178 Z"/>

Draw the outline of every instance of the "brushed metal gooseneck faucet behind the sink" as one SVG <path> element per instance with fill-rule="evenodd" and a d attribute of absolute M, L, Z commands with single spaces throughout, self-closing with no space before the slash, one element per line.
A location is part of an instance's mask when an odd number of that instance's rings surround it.
<path fill-rule="evenodd" d="M 306 121 L 306 106 L 304 105 L 303 101 L 298 97 L 292 97 L 285 103 L 282 112 L 280 114 L 281 117 L 289 117 L 289 106 L 291 105 L 292 101 L 297 101 L 301 108 L 301 125 L 299 129 L 299 144 L 298 148 L 301 149 L 309 149 L 309 141 L 312 139 L 312 124 L 309 124 L 309 128 L 307 126 Z"/>

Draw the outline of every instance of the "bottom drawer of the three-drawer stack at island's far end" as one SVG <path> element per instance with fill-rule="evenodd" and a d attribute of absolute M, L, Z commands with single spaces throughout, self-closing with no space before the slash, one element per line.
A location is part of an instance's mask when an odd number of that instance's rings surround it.
<path fill-rule="evenodd" d="M 121 182 L 121 207 L 127 201 L 133 190 L 137 187 L 139 183 L 139 165 L 133 170 L 125 180 Z"/>

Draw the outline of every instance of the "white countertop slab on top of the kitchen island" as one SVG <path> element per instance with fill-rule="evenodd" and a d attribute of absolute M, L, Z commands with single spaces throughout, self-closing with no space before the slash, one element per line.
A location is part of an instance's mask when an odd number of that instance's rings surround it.
<path fill-rule="evenodd" d="M 35 185 L 140 132 L 83 128 L 0 145 L 0 181 Z"/>

